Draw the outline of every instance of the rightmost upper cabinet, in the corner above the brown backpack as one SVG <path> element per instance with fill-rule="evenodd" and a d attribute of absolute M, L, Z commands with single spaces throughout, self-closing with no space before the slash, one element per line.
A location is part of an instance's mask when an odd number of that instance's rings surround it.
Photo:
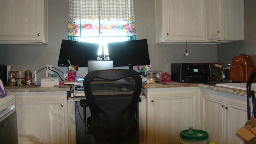
<path fill-rule="evenodd" d="M 207 0 L 209 41 L 244 40 L 244 0 Z"/>

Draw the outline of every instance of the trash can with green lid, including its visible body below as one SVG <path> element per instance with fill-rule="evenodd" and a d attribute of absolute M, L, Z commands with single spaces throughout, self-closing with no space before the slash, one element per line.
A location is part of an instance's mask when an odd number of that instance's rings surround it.
<path fill-rule="evenodd" d="M 208 133 L 189 127 L 188 130 L 180 132 L 180 142 L 182 144 L 208 144 Z"/>

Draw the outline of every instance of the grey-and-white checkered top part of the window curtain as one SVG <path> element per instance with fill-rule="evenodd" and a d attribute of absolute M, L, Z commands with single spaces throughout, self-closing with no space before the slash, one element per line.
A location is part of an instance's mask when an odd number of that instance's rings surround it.
<path fill-rule="evenodd" d="M 134 0 L 69 0 L 69 17 L 74 20 L 134 18 Z"/>

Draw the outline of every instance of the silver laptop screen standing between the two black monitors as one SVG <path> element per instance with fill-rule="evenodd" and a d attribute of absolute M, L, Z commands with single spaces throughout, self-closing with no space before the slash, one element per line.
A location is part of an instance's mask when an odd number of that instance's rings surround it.
<path fill-rule="evenodd" d="M 113 69 L 113 60 L 88 60 L 88 73 L 94 70 Z"/>

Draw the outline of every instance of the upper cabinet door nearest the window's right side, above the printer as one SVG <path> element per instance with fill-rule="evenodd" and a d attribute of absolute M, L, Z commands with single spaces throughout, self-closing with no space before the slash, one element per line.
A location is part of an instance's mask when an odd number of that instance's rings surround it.
<path fill-rule="evenodd" d="M 206 42 L 204 0 L 164 0 L 163 36 L 166 41 Z"/>

